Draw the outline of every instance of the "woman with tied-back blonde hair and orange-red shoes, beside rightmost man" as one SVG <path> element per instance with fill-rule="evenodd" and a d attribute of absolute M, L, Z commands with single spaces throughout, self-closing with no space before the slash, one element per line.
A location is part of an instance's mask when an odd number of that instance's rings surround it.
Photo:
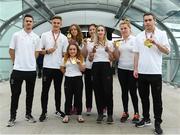
<path fill-rule="evenodd" d="M 123 103 L 123 114 L 120 119 L 121 122 L 125 122 L 128 117 L 128 100 L 130 92 L 133 107 L 134 116 L 132 122 L 139 121 L 139 110 L 138 110 L 138 96 L 137 96 L 137 79 L 133 76 L 133 60 L 134 60 L 134 39 L 131 35 L 131 24 L 130 21 L 125 19 L 120 22 L 120 32 L 122 35 L 122 41 L 119 45 L 115 44 L 115 58 L 118 60 L 118 79 L 121 85 L 122 91 L 122 103 Z"/>

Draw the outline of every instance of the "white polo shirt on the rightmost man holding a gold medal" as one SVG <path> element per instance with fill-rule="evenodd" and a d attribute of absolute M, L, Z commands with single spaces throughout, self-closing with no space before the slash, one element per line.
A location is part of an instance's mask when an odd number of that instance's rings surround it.
<path fill-rule="evenodd" d="M 147 34 L 148 37 L 150 35 L 152 35 L 152 38 L 155 39 L 155 42 L 166 46 L 170 50 L 170 45 L 165 31 L 155 28 L 153 34 Z M 162 74 L 162 52 L 160 52 L 155 45 L 153 45 L 151 48 L 145 46 L 145 40 L 145 31 L 139 33 L 135 40 L 136 45 L 134 52 L 139 53 L 138 73 Z"/>

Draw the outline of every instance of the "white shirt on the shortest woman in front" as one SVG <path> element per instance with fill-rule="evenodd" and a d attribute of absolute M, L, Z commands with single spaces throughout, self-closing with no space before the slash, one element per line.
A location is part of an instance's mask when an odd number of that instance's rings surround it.
<path fill-rule="evenodd" d="M 62 61 L 63 62 L 61 66 L 65 67 L 65 76 L 67 77 L 82 76 L 82 72 L 80 71 L 78 64 L 72 64 L 70 59 L 68 59 L 66 63 L 64 63 L 64 58 Z M 84 62 L 83 65 L 85 65 Z"/>

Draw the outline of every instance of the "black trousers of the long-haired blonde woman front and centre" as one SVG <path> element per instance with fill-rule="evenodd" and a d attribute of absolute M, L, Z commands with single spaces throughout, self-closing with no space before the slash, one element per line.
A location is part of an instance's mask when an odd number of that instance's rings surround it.
<path fill-rule="evenodd" d="M 92 66 L 93 88 L 99 115 L 107 107 L 107 114 L 113 115 L 112 69 L 109 62 L 94 62 Z"/>

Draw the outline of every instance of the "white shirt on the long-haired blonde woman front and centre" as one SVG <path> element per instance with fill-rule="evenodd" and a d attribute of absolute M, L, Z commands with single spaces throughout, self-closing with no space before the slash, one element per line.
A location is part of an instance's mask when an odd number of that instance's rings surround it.
<path fill-rule="evenodd" d="M 110 41 L 107 41 L 106 46 L 109 47 L 111 51 L 113 51 L 113 44 Z M 94 43 L 91 46 L 90 52 L 92 52 L 94 47 Z M 109 54 L 105 51 L 105 46 L 98 45 L 96 47 L 96 52 L 94 54 L 93 62 L 110 62 L 109 60 Z"/>

